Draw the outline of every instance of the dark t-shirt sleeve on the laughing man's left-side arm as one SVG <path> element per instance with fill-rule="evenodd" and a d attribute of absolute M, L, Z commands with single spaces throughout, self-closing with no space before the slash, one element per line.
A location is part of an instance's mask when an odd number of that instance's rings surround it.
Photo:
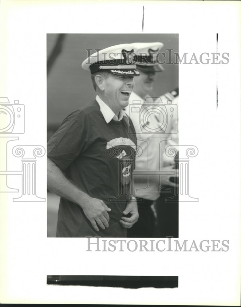
<path fill-rule="evenodd" d="M 79 122 L 66 118 L 47 143 L 47 156 L 63 171 L 85 150 L 88 136 Z"/>

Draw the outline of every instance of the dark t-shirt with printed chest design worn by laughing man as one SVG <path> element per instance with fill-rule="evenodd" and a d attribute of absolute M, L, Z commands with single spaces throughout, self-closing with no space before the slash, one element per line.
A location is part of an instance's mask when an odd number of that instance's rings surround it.
<path fill-rule="evenodd" d="M 135 166 L 136 134 L 131 120 L 106 123 L 95 101 L 67 116 L 49 139 L 47 156 L 75 185 L 111 208 L 109 227 L 95 231 L 82 208 L 61 197 L 57 237 L 126 237 L 120 224 Z"/>

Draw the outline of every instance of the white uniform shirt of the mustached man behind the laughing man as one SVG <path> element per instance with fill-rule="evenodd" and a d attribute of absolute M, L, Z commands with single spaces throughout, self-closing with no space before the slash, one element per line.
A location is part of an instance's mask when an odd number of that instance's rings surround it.
<path fill-rule="evenodd" d="M 155 114 L 151 113 L 149 116 L 144 117 L 144 121 L 142 119 L 140 120 L 142 116 L 139 115 L 143 103 L 144 100 L 132 92 L 129 98 L 129 105 L 124 109 L 133 122 L 136 130 L 137 147 L 139 146 L 142 151 L 142 154 L 136 157 L 136 167 L 133 172 L 134 196 L 148 200 L 156 200 L 160 195 L 160 175 L 148 175 L 145 171 L 159 171 L 161 169 L 161 155 L 164 150 L 162 148 L 164 142 L 161 141 L 164 138 L 161 138 L 160 134 L 148 132 L 148 129 L 145 129 L 144 123 L 148 125 L 148 128 L 155 129 L 160 126 L 160 122 L 158 122 Z"/>

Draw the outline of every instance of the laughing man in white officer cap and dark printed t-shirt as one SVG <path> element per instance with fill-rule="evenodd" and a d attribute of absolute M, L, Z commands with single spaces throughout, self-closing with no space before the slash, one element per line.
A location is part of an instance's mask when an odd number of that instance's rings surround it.
<path fill-rule="evenodd" d="M 126 237 L 138 219 L 129 193 L 136 136 L 122 110 L 140 75 L 133 52 L 132 44 L 116 45 L 82 63 L 95 101 L 67 116 L 47 144 L 48 189 L 61 196 L 57 237 Z"/>

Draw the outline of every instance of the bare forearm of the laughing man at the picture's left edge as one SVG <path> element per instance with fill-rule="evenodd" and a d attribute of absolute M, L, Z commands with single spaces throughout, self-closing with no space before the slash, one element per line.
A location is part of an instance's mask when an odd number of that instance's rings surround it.
<path fill-rule="evenodd" d="M 47 157 L 47 188 L 49 191 L 70 200 L 82 208 L 87 203 L 90 197 L 80 188 L 75 186 L 65 175 L 61 172 L 58 166 Z"/>

